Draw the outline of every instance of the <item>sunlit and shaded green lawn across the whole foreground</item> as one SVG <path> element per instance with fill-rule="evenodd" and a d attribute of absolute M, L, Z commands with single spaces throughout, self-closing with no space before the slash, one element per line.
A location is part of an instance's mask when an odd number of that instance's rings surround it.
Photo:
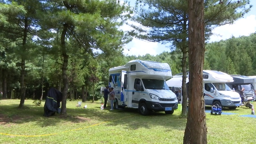
<path fill-rule="evenodd" d="M 141 116 L 136 109 L 100 110 L 97 101 L 84 102 L 86 109 L 67 101 L 66 116 L 44 117 L 44 102 L 37 107 L 32 102 L 25 100 L 26 108 L 18 109 L 20 100 L 0 100 L 0 143 L 183 143 L 187 119 L 179 118 L 179 111 Z M 256 143 L 256 118 L 239 116 L 251 114 L 251 109 L 223 112 L 237 114 L 206 114 L 208 143 Z"/>

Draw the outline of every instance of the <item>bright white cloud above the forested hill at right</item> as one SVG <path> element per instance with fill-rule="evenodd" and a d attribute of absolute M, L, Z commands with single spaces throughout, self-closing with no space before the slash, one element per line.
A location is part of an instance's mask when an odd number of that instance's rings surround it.
<path fill-rule="evenodd" d="M 210 42 L 226 40 L 231 36 L 249 36 L 256 31 L 256 16 L 250 15 L 234 22 L 234 24 L 224 25 L 215 28 L 210 37 Z M 218 36 L 220 35 L 220 36 Z"/>

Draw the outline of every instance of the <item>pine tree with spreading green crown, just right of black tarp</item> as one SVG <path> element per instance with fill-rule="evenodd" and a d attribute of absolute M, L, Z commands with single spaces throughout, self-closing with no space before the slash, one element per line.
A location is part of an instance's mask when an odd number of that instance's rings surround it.
<path fill-rule="evenodd" d="M 117 27 L 123 24 L 131 11 L 129 5 L 120 5 L 115 0 L 46 2 L 50 8 L 44 24 L 49 31 L 60 34 L 60 38 L 55 36 L 55 41 L 59 44 L 63 58 L 61 113 L 66 114 L 67 68 L 70 53 L 79 49 L 80 53 L 95 57 L 119 52 L 131 39 Z"/>

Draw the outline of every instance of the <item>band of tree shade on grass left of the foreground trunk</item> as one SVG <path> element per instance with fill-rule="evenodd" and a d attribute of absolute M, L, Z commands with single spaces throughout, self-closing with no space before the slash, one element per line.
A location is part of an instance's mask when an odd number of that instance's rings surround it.
<path fill-rule="evenodd" d="M 107 122 L 107 125 L 118 125 L 130 130 L 151 129 L 152 126 L 184 130 L 187 122 L 187 119 L 178 118 L 177 113 L 166 115 L 164 112 L 151 112 L 148 116 L 142 116 L 138 113 L 138 109 L 134 108 L 100 110 L 98 103 L 92 104 L 89 108 L 67 108 L 66 115 L 57 113 L 50 117 L 43 115 L 44 106 L 26 105 L 25 108 L 19 109 L 17 104 L 0 105 L 0 122 L 5 121 L 3 124 L 36 122 L 41 127 L 47 127 L 66 122 L 86 125 Z"/>

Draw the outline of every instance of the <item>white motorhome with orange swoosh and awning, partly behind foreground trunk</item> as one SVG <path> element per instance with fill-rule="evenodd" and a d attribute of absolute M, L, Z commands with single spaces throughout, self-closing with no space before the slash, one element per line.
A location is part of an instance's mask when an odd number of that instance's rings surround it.
<path fill-rule="evenodd" d="M 187 75 L 186 80 L 187 83 L 189 81 L 188 76 L 189 75 Z M 233 81 L 233 78 L 226 73 L 215 70 L 203 70 L 203 93 L 205 105 L 218 104 L 222 107 L 227 107 L 230 109 L 235 109 L 237 106 L 240 106 L 241 98 L 239 93 L 231 90 L 226 84 Z M 166 84 L 169 87 L 178 88 L 181 90 L 182 74 L 172 76 L 170 80 L 166 81 Z"/>

